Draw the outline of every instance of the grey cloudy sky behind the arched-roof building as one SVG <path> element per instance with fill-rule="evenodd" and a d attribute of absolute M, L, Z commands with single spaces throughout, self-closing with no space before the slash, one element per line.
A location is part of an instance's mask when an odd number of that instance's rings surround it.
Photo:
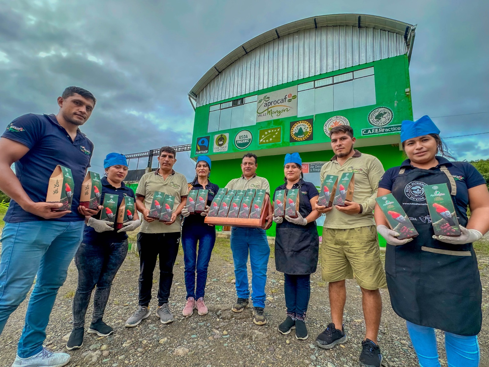
<path fill-rule="evenodd" d="M 489 158 L 489 134 L 458 137 L 489 132 L 488 4 L 0 0 L 1 124 L 57 113 L 65 87 L 86 88 L 98 102 L 83 131 L 101 171 L 111 151 L 190 143 L 187 93 L 247 40 L 314 15 L 366 13 L 418 24 L 410 65 L 415 117 L 440 116 L 433 119 L 457 159 Z M 190 178 L 188 153 L 178 154 L 176 169 Z"/>

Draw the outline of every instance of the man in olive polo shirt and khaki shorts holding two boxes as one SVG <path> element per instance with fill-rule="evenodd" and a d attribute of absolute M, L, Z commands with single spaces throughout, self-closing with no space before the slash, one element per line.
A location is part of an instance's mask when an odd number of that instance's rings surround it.
<path fill-rule="evenodd" d="M 346 343 L 343 331 L 343 309 L 346 300 L 345 279 L 353 279 L 362 292 L 366 335 L 362 342 L 360 366 L 380 366 L 381 355 L 377 345 L 378 326 L 382 312 L 379 288 L 386 288 L 385 273 L 380 261 L 377 229 L 373 210 L 378 182 L 384 173 L 382 163 L 369 154 L 353 149 L 353 129 L 347 125 L 331 129 L 331 146 L 335 155 L 321 168 L 320 181 L 327 175 L 341 176 L 355 173 L 352 201 L 345 206 L 318 206 L 326 214 L 321 243 L 322 277 L 329 282 L 332 322 L 319 334 L 316 344 L 331 349 Z M 336 189 L 339 191 L 339 187 Z"/>

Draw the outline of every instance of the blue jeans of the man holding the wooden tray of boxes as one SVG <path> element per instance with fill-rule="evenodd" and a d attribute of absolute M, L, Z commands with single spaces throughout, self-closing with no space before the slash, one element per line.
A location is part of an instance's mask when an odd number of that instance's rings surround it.
<path fill-rule="evenodd" d="M 251 265 L 251 300 L 254 307 L 265 307 L 265 283 L 267 282 L 268 245 L 265 229 L 231 227 L 231 251 L 238 298 L 249 298 L 248 269 Z"/>

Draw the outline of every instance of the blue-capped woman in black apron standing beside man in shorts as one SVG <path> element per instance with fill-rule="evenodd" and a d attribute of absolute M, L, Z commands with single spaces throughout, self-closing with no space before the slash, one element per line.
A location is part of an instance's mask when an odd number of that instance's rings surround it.
<path fill-rule="evenodd" d="M 299 189 L 299 212 L 297 218 L 275 217 L 275 267 L 284 273 L 285 304 L 287 318 L 278 329 L 286 335 L 295 328 L 295 337 L 308 338 L 304 319 L 311 295 L 311 274 L 316 271 L 319 253 L 319 236 L 315 220 L 321 215 L 314 207 L 319 196 L 317 188 L 303 180 L 302 160 L 299 153 L 287 154 L 284 162 L 285 184 L 277 190 Z M 275 193 L 273 194 L 275 202 Z"/>

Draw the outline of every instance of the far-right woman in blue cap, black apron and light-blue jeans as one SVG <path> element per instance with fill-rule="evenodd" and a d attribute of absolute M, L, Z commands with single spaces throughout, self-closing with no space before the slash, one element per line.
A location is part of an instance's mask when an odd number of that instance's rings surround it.
<path fill-rule="evenodd" d="M 392 308 L 406 320 L 420 366 L 440 366 L 434 332 L 440 329 L 445 331 L 448 365 L 475 367 L 482 287 L 472 242 L 489 229 L 489 192 L 475 167 L 443 157 L 439 133 L 428 116 L 402 121 L 400 138 L 408 159 L 387 170 L 378 185 L 378 197 L 392 192 L 419 235 L 398 240 L 399 233 L 387 227 L 378 206 L 375 220 L 387 241 L 385 273 Z M 436 184 L 447 184 L 450 190 L 461 236 L 434 235 L 423 187 Z"/>

